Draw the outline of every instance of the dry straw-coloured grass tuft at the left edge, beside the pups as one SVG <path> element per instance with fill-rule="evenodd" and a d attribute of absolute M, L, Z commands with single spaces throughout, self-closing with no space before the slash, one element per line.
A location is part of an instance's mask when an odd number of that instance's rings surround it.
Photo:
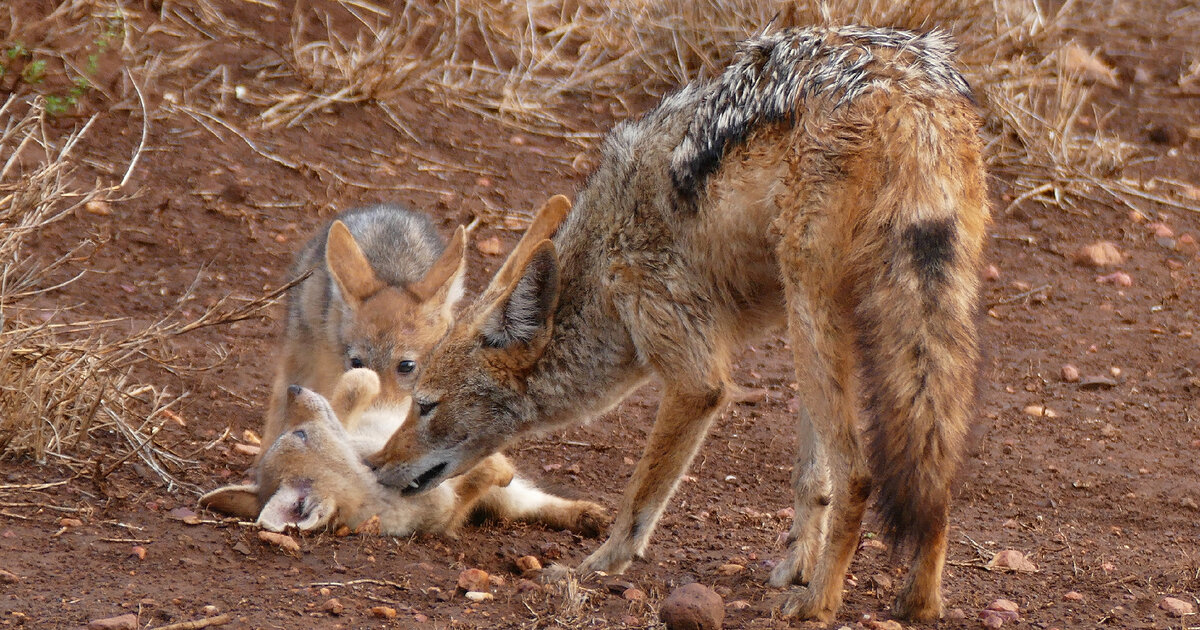
<path fill-rule="evenodd" d="M 54 460 L 97 484 L 138 457 L 168 484 L 188 486 L 175 473 L 194 462 L 155 440 L 179 420 L 172 407 L 184 394 L 143 383 L 136 368 L 160 365 L 172 337 L 258 317 L 280 292 L 222 301 L 192 320 L 168 313 L 134 332 L 118 326 L 122 319 L 70 322 L 48 294 L 79 278 L 71 268 L 90 244 L 43 260 L 31 256 L 30 240 L 114 192 L 73 185 L 70 164 L 94 119 L 55 137 L 43 101 L 12 96 L 0 120 L 0 155 L 8 156 L 0 167 L 0 455 Z"/>

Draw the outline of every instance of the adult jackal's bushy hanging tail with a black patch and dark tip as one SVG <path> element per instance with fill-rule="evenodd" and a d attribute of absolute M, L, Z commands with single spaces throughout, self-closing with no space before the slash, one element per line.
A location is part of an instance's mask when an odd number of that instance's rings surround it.
<path fill-rule="evenodd" d="M 876 264 L 865 265 L 858 287 L 869 457 L 884 530 L 901 544 L 922 546 L 944 532 L 974 403 L 989 211 L 971 116 L 918 116 L 912 137 L 890 138 L 904 149 L 882 176 Z"/>

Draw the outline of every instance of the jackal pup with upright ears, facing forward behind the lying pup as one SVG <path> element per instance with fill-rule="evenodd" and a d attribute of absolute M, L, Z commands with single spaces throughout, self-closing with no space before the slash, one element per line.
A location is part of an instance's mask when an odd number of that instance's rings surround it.
<path fill-rule="evenodd" d="M 379 374 L 374 406 L 403 418 L 421 362 L 462 298 L 466 232 L 449 245 L 430 218 L 394 204 L 347 210 L 296 254 L 263 445 L 278 437 L 290 385 L 330 396 L 342 373 Z"/>

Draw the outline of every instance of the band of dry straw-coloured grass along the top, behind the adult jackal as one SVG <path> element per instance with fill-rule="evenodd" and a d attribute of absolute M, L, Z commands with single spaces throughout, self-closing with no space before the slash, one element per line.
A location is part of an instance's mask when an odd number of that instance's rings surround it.
<path fill-rule="evenodd" d="M 644 107 L 647 96 L 718 73 L 738 40 L 763 29 L 941 28 L 960 42 L 988 115 L 990 167 L 1012 186 L 1009 205 L 1037 200 L 1072 209 L 1092 199 L 1144 214 L 1147 202 L 1200 210 L 1186 196 L 1150 194 L 1156 186 L 1123 180 L 1133 146 L 1080 125 L 1081 116 L 1097 118 L 1088 104 L 1097 79 L 1069 54 L 1080 50 L 1069 29 L 1094 19 L 1079 5 L 1068 1 L 1051 13 L 1033 0 L 300 4 L 288 42 L 272 47 L 260 80 L 244 86 L 240 98 L 262 108 L 265 127 L 305 125 L 331 104 L 373 103 L 414 138 L 397 102 L 463 108 L 568 140 L 554 157 L 569 163 L 602 131 L 587 128 L 590 112 L 581 116 L 580 102 L 616 103 L 618 115 L 626 115 Z M 188 19 L 224 36 L 250 36 L 208 2 L 198 2 Z"/>

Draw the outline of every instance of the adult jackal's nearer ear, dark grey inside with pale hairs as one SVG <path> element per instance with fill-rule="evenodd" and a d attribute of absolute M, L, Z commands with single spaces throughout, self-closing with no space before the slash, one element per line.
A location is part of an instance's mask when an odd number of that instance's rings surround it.
<path fill-rule="evenodd" d="M 550 330 L 558 306 L 558 254 L 554 244 L 538 244 L 509 289 L 484 316 L 480 332 L 492 348 L 532 343 Z"/>

